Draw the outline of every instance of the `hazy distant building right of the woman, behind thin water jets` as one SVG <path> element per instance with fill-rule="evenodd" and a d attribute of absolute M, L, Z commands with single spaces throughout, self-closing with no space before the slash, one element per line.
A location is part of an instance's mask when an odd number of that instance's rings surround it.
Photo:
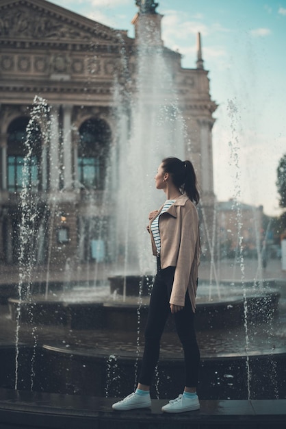
<path fill-rule="evenodd" d="M 220 256 L 257 256 L 263 241 L 263 207 L 235 202 L 233 199 L 216 203 L 218 249 Z"/>

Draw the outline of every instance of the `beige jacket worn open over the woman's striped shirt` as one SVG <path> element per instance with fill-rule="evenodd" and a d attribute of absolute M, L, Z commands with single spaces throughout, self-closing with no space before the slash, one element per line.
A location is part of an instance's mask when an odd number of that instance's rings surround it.
<path fill-rule="evenodd" d="M 157 216 L 161 209 L 159 208 Z M 151 219 L 148 231 L 151 232 Z M 198 212 L 192 201 L 183 194 L 159 218 L 161 236 L 161 268 L 176 267 L 170 304 L 185 305 L 185 293 L 188 291 L 192 309 L 196 309 L 196 288 L 198 265 L 200 264 L 200 236 Z M 157 249 L 151 232 L 153 255 Z"/>

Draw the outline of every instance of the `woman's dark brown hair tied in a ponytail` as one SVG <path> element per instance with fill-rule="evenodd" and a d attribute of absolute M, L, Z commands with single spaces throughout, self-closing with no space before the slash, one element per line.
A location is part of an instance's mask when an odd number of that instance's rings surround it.
<path fill-rule="evenodd" d="M 198 204 L 200 194 L 198 193 L 196 183 L 196 173 L 192 162 L 189 160 L 181 161 L 178 158 L 164 158 L 162 160 L 164 173 L 169 173 L 172 177 L 174 186 L 186 193 L 191 201 Z"/>

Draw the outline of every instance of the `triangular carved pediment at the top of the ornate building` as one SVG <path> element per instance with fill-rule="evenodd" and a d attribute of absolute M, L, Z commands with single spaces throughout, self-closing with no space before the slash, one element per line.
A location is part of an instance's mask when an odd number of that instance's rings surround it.
<path fill-rule="evenodd" d="M 0 40 L 118 43 L 122 37 L 125 32 L 46 0 L 0 0 Z"/>

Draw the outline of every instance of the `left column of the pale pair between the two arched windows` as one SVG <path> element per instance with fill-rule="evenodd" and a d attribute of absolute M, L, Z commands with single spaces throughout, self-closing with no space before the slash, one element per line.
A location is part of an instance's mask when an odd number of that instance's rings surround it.
<path fill-rule="evenodd" d="M 51 130 L 50 130 L 50 190 L 56 192 L 60 184 L 60 130 L 59 130 L 59 106 L 51 107 Z"/>

